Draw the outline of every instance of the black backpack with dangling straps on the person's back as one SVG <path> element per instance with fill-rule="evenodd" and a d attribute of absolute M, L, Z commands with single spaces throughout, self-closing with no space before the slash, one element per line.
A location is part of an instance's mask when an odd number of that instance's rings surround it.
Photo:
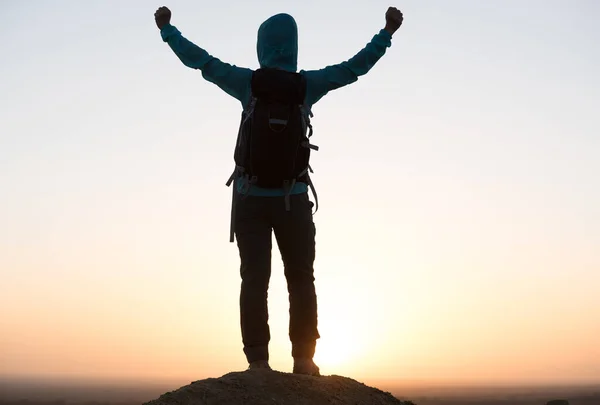
<path fill-rule="evenodd" d="M 289 211 L 292 188 L 297 182 L 304 182 L 311 188 L 318 210 L 309 160 L 311 150 L 319 148 L 309 141 L 313 115 L 304 105 L 306 78 L 296 72 L 261 68 L 252 74 L 251 91 L 250 103 L 242 111 L 234 151 L 235 170 L 227 186 L 243 177 L 245 195 L 253 185 L 283 188 Z M 236 187 L 233 203 L 235 191 Z M 232 207 L 232 235 L 234 212 Z M 233 237 L 230 239 L 233 241 Z"/>

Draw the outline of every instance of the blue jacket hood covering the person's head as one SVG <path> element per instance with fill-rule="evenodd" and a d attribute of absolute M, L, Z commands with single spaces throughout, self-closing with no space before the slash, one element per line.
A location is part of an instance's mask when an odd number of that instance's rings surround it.
<path fill-rule="evenodd" d="M 261 68 L 295 72 L 298 68 L 298 26 L 289 14 L 276 14 L 258 29 L 256 52 Z"/>

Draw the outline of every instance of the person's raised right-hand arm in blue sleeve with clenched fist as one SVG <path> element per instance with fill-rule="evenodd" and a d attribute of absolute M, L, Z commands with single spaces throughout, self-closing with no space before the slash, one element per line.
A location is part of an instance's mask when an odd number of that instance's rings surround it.
<path fill-rule="evenodd" d="M 402 25 L 400 10 L 390 7 L 385 14 L 385 28 L 381 29 L 362 50 L 352 58 L 337 65 L 319 70 L 305 71 L 307 81 L 306 102 L 313 105 L 332 90 L 354 83 L 365 75 L 392 46 L 392 36 Z"/>

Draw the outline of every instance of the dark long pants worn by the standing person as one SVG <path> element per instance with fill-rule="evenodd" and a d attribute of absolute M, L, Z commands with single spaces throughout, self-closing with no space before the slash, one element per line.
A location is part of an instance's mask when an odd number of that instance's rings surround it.
<path fill-rule="evenodd" d="M 289 293 L 292 356 L 312 358 L 317 331 L 314 285 L 315 224 L 308 193 L 283 197 L 236 197 L 234 229 L 240 252 L 240 321 L 248 362 L 269 359 L 267 289 L 271 277 L 271 232 L 283 259 Z"/>

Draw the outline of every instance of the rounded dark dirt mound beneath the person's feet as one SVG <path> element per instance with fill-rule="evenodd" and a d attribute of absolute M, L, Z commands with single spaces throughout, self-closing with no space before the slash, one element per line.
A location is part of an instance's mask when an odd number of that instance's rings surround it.
<path fill-rule="evenodd" d="M 143 405 L 408 405 L 376 388 L 340 376 L 278 371 L 233 372 L 195 381 Z"/>

